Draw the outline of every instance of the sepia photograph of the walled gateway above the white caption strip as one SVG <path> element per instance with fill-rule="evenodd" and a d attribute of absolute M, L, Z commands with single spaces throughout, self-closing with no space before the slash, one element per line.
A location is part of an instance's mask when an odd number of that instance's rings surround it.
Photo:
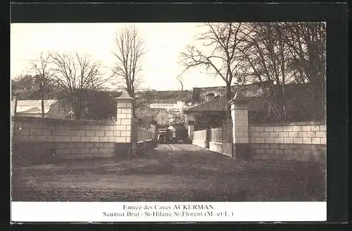
<path fill-rule="evenodd" d="M 11 201 L 326 201 L 326 44 L 325 22 L 11 23 Z"/>

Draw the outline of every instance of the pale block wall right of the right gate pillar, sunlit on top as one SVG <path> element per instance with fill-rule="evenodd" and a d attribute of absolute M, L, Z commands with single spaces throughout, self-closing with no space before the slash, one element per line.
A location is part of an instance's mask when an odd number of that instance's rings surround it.
<path fill-rule="evenodd" d="M 315 122 L 249 125 L 253 158 L 324 162 L 326 125 Z"/>

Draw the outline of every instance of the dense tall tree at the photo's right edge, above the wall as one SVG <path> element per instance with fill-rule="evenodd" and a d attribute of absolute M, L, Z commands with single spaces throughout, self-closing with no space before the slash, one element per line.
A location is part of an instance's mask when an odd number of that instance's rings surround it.
<path fill-rule="evenodd" d="M 315 119 L 325 116 L 326 25 L 325 23 L 286 23 L 284 42 L 293 56 L 292 68 L 302 82 L 313 87 Z"/>

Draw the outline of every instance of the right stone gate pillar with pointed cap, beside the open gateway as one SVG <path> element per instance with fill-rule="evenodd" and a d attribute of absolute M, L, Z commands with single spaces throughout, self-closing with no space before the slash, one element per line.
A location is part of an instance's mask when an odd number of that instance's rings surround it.
<path fill-rule="evenodd" d="M 232 117 L 232 156 L 246 157 L 249 154 L 248 99 L 237 93 L 229 101 Z"/>

